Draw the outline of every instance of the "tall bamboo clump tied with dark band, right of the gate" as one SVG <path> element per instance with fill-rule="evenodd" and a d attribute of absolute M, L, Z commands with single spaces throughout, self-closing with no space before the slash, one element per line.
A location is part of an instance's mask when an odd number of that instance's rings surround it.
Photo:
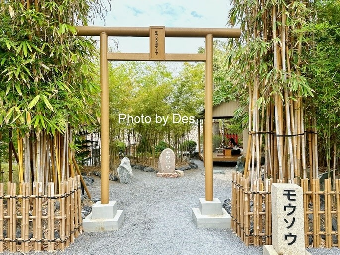
<path fill-rule="evenodd" d="M 237 70 L 236 86 L 249 106 L 245 175 L 251 184 L 261 177 L 264 152 L 265 177 L 274 182 L 299 184 L 300 178 L 318 178 L 319 130 L 315 110 L 309 107 L 315 91 L 306 74 L 306 53 L 313 47 L 305 30 L 313 21 L 311 6 L 304 0 L 232 4 L 230 23 L 243 33 L 239 42 L 230 41 L 229 65 Z M 335 168 L 335 157 L 333 161 Z"/>

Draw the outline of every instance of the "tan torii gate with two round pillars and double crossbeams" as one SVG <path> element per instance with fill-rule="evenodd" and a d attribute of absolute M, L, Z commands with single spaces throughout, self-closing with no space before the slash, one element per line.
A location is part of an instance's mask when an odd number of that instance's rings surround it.
<path fill-rule="evenodd" d="M 205 61 L 205 201 L 213 202 L 212 157 L 212 56 L 213 38 L 239 38 L 237 28 L 169 28 L 150 27 L 95 27 L 77 26 L 78 36 L 100 36 L 101 86 L 101 206 L 109 205 L 109 84 L 108 61 Z M 108 36 L 149 37 L 149 53 L 108 52 Z M 167 54 L 165 37 L 205 37 L 205 53 Z M 200 200 L 201 201 L 201 200 Z M 115 202 L 115 201 L 114 201 Z M 117 227 L 117 229 L 119 226 Z M 109 229 L 106 229 L 109 230 Z"/>

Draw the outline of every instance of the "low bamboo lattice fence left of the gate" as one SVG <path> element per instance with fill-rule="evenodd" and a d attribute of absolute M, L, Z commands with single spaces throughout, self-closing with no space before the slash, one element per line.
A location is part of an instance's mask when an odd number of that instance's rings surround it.
<path fill-rule="evenodd" d="M 43 193 L 42 183 L 21 185 L 16 194 L 16 183 L 0 183 L 0 252 L 52 252 L 64 250 L 82 233 L 80 177 L 68 178 L 60 183 L 61 194 L 55 192 L 54 183 L 48 183 Z M 59 208 L 56 206 L 59 202 Z"/>

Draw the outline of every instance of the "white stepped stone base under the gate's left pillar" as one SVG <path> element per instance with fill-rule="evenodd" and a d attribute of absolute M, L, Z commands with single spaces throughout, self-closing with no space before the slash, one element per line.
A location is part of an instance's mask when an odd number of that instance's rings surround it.
<path fill-rule="evenodd" d="M 92 212 L 83 220 L 83 229 L 87 232 L 102 232 L 118 230 L 123 223 L 123 210 L 117 210 L 117 202 L 108 204 L 97 202 L 92 206 Z"/>

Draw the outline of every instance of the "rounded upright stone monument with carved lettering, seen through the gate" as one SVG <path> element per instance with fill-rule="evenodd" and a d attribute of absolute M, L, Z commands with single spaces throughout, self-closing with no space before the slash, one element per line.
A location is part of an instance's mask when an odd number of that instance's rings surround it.
<path fill-rule="evenodd" d="M 158 159 L 158 177 L 177 177 L 177 173 L 175 172 L 175 158 L 175 153 L 172 149 L 167 148 L 162 151 Z"/>

